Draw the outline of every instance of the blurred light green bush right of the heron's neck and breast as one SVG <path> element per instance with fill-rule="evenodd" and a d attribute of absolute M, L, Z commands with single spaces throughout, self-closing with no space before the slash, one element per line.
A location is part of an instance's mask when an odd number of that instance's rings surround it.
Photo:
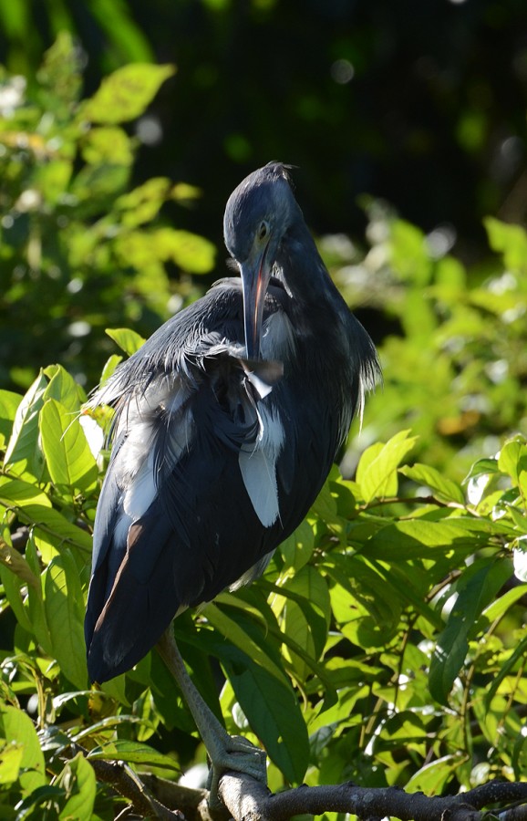
<path fill-rule="evenodd" d="M 418 435 L 421 462 L 460 481 L 503 437 L 527 435 L 525 232 L 485 221 L 497 255 L 468 271 L 381 203 L 365 203 L 364 256 L 322 248 L 351 304 L 378 307 L 394 331 L 382 345 L 383 390 L 368 400 L 364 438 Z M 349 452 L 345 472 L 355 466 Z M 425 480 L 426 483 L 426 480 Z"/>

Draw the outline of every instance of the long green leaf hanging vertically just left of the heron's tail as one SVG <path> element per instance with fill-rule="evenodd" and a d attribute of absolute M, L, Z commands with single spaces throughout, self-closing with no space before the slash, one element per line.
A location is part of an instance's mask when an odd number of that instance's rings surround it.
<path fill-rule="evenodd" d="M 84 643 L 84 598 L 78 567 L 68 548 L 45 571 L 44 607 L 53 654 L 78 690 L 88 684 Z"/>

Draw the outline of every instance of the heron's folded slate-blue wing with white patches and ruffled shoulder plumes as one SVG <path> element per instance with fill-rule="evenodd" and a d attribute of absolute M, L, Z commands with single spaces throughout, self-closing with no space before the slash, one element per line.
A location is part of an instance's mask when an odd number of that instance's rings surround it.
<path fill-rule="evenodd" d="M 280 376 L 243 359 L 239 289 L 213 296 L 213 315 L 205 297 L 173 317 L 92 400 L 116 407 L 86 620 L 97 681 L 276 544 L 283 433 L 269 393 Z"/>

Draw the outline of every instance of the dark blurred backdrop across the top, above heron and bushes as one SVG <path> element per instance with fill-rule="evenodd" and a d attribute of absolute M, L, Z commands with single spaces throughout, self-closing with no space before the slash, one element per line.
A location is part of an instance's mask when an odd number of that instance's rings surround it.
<path fill-rule="evenodd" d="M 269 159 L 300 166 L 319 234 L 360 231 L 361 192 L 427 233 L 450 223 L 475 257 L 485 214 L 524 216 L 522 0 L 13 0 L 0 28 L 28 78 L 72 32 L 87 94 L 126 63 L 175 64 L 134 127 L 136 177 L 201 186 L 187 227 L 218 242 L 233 182 Z"/>

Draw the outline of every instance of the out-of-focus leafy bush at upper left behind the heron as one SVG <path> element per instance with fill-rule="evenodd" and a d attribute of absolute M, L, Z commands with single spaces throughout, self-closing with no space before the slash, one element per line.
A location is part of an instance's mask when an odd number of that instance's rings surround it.
<path fill-rule="evenodd" d="M 160 215 L 198 192 L 163 177 L 131 188 L 139 142 L 125 125 L 173 72 L 132 64 L 81 99 L 80 54 L 66 33 L 36 85 L 0 70 L 0 382 L 27 387 L 45 348 L 93 384 L 107 323 L 151 332 L 167 305 L 195 295 L 188 275 L 211 271 L 213 245 Z"/>

